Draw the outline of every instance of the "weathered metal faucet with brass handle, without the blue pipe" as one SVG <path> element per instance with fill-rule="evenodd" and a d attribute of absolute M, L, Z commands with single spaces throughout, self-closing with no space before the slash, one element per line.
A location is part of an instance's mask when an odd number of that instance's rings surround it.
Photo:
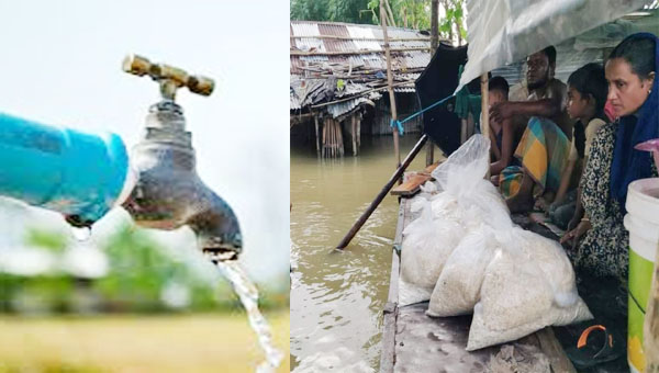
<path fill-rule="evenodd" d="M 143 227 L 170 230 L 188 225 L 213 262 L 236 260 L 243 248 L 238 221 L 197 174 L 191 134 L 182 108 L 174 101 L 182 87 L 211 94 L 213 80 L 135 55 L 124 59 L 123 69 L 157 81 L 163 100 L 149 108 L 144 137 L 132 150 L 137 182 L 122 206 Z"/>

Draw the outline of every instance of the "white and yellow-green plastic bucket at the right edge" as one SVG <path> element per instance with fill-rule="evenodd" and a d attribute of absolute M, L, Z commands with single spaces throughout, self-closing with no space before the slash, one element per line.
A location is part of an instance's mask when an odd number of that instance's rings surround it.
<path fill-rule="evenodd" d="M 627 190 L 625 228 L 629 230 L 629 295 L 627 360 L 644 372 L 644 320 L 659 246 L 659 178 L 632 182 Z"/>

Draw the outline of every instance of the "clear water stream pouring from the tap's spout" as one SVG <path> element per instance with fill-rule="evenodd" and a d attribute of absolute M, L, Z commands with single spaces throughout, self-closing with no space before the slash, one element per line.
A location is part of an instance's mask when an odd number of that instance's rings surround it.
<path fill-rule="evenodd" d="M 258 310 L 258 290 L 252 283 L 243 268 L 236 261 L 221 261 L 217 262 L 217 268 L 222 271 L 222 274 L 231 282 L 233 290 L 238 295 L 241 303 L 247 312 L 247 318 L 249 325 L 258 338 L 266 361 L 264 361 L 256 369 L 257 373 L 271 373 L 275 372 L 277 366 L 281 363 L 283 354 L 272 346 L 272 332 L 270 326 L 266 321 L 266 318 Z"/>

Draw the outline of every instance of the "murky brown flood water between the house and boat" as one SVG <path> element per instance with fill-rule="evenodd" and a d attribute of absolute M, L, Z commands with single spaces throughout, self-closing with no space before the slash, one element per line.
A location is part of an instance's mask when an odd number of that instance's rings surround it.
<path fill-rule="evenodd" d="M 401 138 L 401 158 L 420 136 Z M 384 199 L 345 251 L 332 250 L 395 169 L 391 136 L 364 137 L 360 150 L 328 160 L 317 159 L 315 149 L 291 147 L 293 372 L 379 369 L 396 197 Z M 409 170 L 424 167 L 422 150 Z"/>

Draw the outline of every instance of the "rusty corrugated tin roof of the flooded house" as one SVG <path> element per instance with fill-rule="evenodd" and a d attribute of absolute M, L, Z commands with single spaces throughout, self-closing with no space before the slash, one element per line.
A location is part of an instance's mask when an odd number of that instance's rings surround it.
<path fill-rule="evenodd" d="M 414 81 L 431 61 L 429 36 L 409 29 L 388 27 L 387 31 L 391 48 L 410 49 L 391 52 L 394 81 Z M 290 33 L 291 110 L 353 98 L 324 106 L 336 118 L 380 99 L 386 92 L 371 92 L 373 87 L 387 84 L 381 26 L 291 21 Z M 313 55 L 295 54 L 299 52 Z M 415 92 L 413 86 L 396 87 L 394 91 Z"/>

